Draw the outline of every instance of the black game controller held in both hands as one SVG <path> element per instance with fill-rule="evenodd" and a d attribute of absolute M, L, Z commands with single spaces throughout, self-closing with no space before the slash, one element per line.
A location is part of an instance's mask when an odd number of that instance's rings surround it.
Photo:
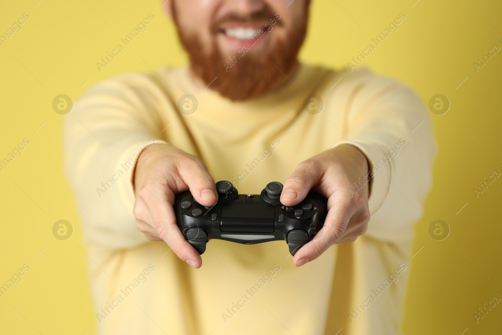
<path fill-rule="evenodd" d="M 199 252 L 206 251 L 211 239 L 242 244 L 286 240 L 292 256 L 319 232 L 327 214 L 327 199 L 309 192 L 295 206 L 285 206 L 280 197 L 283 185 L 273 181 L 262 194 L 238 194 L 232 183 L 216 183 L 218 202 L 198 203 L 190 191 L 175 197 L 178 227 L 185 239 Z"/>

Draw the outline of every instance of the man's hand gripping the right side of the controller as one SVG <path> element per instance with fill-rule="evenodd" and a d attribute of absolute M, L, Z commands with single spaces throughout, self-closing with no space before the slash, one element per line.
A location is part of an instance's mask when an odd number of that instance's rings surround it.
<path fill-rule="evenodd" d="M 367 175 L 366 157 L 350 144 L 326 150 L 298 165 L 284 183 L 281 202 L 286 206 L 296 205 L 312 189 L 328 198 L 328 215 L 323 228 L 296 253 L 293 264 L 302 266 L 331 245 L 354 242 L 366 232 L 369 183 L 364 180 Z M 359 190 L 354 182 L 359 183 Z"/>

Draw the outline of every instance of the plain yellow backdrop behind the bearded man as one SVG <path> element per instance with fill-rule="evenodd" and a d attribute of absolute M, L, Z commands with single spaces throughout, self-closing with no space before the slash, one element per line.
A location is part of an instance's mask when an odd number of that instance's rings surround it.
<path fill-rule="evenodd" d="M 502 290 L 502 177 L 478 198 L 472 190 L 495 169 L 502 172 L 497 167 L 502 165 L 502 51 L 478 72 L 472 65 L 494 44 L 502 47 L 497 41 L 502 40 L 502 6 L 496 3 L 314 0 L 311 8 L 302 61 L 346 67 L 372 37 L 405 13 L 399 30 L 363 65 L 406 82 L 426 105 L 438 93 L 451 103 L 446 114 L 431 113 L 438 155 L 433 188 L 415 226 L 412 253 L 420 251 L 413 258 L 401 315 L 405 334 L 501 331 L 502 303 L 479 323 L 472 316 L 494 295 L 502 298 L 497 292 Z M 30 15 L 22 30 L 0 46 L 0 159 L 24 138 L 30 141 L 22 156 L 0 171 L 0 285 L 23 264 L 30 266 L 22 281 L 0 297 L 2 334 L 95 331 L 89 259 L 80 241 L 78 213 L 83 208 L 76 208 L 62 169 L 64 116 L 51 105 L 58 94 L 75 100 L 92 84 L 117 73 L 186 63 L 172 21 L 160 5 L 156 0 L 32 0 L 2 6 L 0 33 L 23 13 Z M 99 72 L 95 63 L 150 12 L 156 17 L 148 30 Z M 73 224 L 67 241 L 52 235 L 60 219 Z M 436 219 L 450 227 L 444 241 L 429 236 L 429 225 Z"/>

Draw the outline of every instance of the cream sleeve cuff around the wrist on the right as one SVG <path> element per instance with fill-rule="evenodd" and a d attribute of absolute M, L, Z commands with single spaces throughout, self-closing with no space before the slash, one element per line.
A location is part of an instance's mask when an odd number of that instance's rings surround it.
<path fill-rule="evenodd" d="M 340 141 L 333 148 L 341 144 L 350 144 L 359 149 L 369 163 L 369 194 L 368 207 L 373 214 L 382 206 L 391 185 L 391 164 L 387 153 L 377 144 L 366 141 Z M 375 165 L 376 164 L 376 165 Z"/>

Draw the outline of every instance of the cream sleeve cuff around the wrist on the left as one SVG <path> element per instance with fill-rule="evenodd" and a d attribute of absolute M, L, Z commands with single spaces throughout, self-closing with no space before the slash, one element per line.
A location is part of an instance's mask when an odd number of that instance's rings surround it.
<path fill-rule="evenodd" d="M 118 183 L 118 193 L 120 194 L 120 198 L 129 212 L 133 212 L 134 202 L 135 202 L 135 193 L 134 193 L 134 171 L 136 170 L 136 164 L 140 157 L 143 157 L 143 151 L 156 143 L 164 143 L 167 142 L 162 140 L 154 140 L 149 139 L 148 141 L 137 143 L 134 146 L 131 146 L 129 149 L 123 152 L 120 156 L 117 163 L 117 171 L 125 171 L 127 174 L 127 178 L 122 178 L 121 182 Z M 146 149 L 148 150 L 148 149 Z"/>

